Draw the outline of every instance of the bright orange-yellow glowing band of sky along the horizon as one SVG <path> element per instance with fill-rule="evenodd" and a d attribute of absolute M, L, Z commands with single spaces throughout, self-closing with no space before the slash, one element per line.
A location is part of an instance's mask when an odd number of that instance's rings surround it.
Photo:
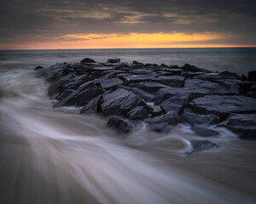
<path fill-rule="evenodd" d="M 220 33 L 129 33 L 129 34 L 72 34 L 52 37 L 43 42 L 37 36 L 33 42 L 0 44 L 0 49 L 82 49 L 82 48 L 242 48 L 256 45 L 213 44 L 212 41 L 231 39 Z M 40 41 L 41 39 L 41 41 Z"/>

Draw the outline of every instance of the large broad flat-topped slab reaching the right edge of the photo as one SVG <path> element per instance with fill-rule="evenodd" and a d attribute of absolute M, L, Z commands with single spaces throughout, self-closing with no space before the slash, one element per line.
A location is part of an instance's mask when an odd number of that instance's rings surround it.
<path fill-rule="evenodd" d="M 230 113 L 256 113 L 256 99 L 247 96 L 207 95 L 189 103 L 190 109 L 199 114 L 216 114 L 221 119 Z"/>

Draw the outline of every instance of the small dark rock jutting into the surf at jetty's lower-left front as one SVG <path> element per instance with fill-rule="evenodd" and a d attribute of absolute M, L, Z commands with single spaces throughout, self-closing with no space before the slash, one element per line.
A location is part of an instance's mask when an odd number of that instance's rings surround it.
<path fill-rule="evenodd" d="M 108 119 L 108 127 L 113 127 L 119 134 L 130 133 L 136 126 L 131 124 L 128 120 L 119 117 L 111 117 Z"/>

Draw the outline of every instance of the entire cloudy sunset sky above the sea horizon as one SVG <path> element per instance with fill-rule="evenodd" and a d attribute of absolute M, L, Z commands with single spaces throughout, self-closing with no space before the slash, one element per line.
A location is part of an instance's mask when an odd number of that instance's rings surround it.
<path fill-rule="evenodd" d="M 255 0 L 1 0 L 0 49 L 256 46 Z"/>

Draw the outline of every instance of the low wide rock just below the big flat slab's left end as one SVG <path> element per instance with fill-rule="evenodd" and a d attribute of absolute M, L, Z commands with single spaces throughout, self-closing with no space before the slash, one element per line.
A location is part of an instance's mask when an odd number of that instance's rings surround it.
<path fill-rule="evenodd" d="M 198 115 L 191 112 L 183 113 L 180 117 L 180 122 L 191 125 L 212 125 L 219 122 L 218 116 L 214 114 L 209 115 Z"/>

